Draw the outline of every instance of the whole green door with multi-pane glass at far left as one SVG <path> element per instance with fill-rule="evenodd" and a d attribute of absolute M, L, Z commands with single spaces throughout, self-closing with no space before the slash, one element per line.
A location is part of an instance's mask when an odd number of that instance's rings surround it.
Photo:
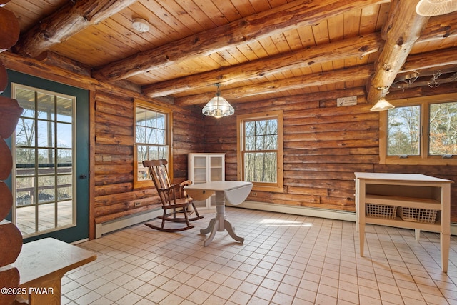
<path fill-rule="evenodd" d="M 9 219 L 24 241 L 89 237 L 89 92 L 8 71 L 3 95 L 24 109 L 6 142 L 14 169 Z"/>

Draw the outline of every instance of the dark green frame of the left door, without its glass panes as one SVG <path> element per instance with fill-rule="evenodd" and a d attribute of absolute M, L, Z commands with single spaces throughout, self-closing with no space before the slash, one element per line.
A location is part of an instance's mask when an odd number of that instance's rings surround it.
<path fill-rule="evenodd" d="M 24 242 L 54 237 L 65 242 L 89 238 L 89 91 L 36 76 L 8 70 L 8 86 L 0 94 L 11 97 L 11 82 L 76 96 L 76 226 L 24 239 Z M 6 139 L 11 149 L 11 137 Z M 11 189 L 11 175 L 6 180 Z M 8 218 L 11 220 L 11 213 Z"/>

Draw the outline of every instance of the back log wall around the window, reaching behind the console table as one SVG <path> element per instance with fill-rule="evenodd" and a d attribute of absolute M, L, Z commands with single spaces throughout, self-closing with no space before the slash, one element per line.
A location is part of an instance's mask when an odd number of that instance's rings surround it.
<path fill-rule="evenodd" d="M 358 96 L 356 106 L 336 98 Z M 238 104 L 236 114 L 283 109 L 284 192 L 256 191 L 248 200 L 355 211 L 354 172 L 421 173 L 457 182 L 457 166 L 379 164 L 379 113 L 369 111 L 363 89 L 288 96 Z M 206 151 L 226 153 L 226 179 L 235 180 L 236 116 L 205 118 Z M 457 221 L 457 185 L 452 184 L 451 220 Z"/>

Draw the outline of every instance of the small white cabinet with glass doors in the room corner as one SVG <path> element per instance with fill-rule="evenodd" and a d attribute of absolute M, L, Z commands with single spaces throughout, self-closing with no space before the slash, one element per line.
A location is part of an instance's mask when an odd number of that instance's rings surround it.
<path fill-rule="evenodd" d="M 193 184 L 225 180 L 225 154 L 193 153 L 188 155 L 189 180 Z M 216 197 L 195 201 L 200 209 L 210 209 L 216 206 Z"/>

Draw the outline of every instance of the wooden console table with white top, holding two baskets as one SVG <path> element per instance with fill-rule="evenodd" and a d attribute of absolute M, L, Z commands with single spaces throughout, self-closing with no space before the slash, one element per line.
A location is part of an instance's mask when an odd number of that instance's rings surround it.
<path fill-rule="evenodd" d="M 356 219 L 360 255 L 363 256 L 365 224 L 396 226 L 416 230 L 416 240 L 420 230 L 440 232 L 441 268 L 448 270 L 449 244 L 451 241 L 451 183 L 422 174 L 354 173 L 356 175 Z M 436 210 L 434 223 L 404 221 L 366 215 L 366 204 L 398 206 Z"/>

